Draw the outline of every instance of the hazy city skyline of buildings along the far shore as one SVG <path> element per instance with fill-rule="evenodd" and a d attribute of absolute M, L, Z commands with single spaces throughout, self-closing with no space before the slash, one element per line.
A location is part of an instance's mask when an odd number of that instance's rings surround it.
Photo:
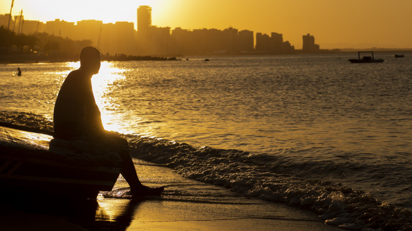
<path fill-rule="evenodd" d="M 0 26 L 7 28 L 10 14 L 0 15 Z M 20 29 L 19 29 L 20 28 Z M 104 24 L 97 20 L 82 20 L 76 23 L 55 19 L 46 23 L 24 20 L 15 16 L 11 20 L 10 30 L 23 34 L 48 33 L 73 40 L 88 39 L 102 53 L 126 55 L 201 55 L 201 54 L 238 54 L 295 53 L 295 47 L 283 40 L 283 34 L 254 33 L 249 30 L 238 31 L 229 27 L 218 29 L 186 30 L 177 27 L 157 27 L 152 25 L 152 8 L 140 6 L 137 9 L 137 31 L 130 22 Z M 256 45 L 254 45 L 256 44 Z M 319 51 L 315 38 L 303 35 L 303 52 Z"/>

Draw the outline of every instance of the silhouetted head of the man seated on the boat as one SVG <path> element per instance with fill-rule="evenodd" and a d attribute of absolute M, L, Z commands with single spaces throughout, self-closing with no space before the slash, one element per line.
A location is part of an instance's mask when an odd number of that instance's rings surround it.
<path fill-rule="evenodd" d="M 87 46 L 80 52 L 80 68 L 92 74 L 99 73 L 101 60 L 100 51 L 95 47 Z"/>

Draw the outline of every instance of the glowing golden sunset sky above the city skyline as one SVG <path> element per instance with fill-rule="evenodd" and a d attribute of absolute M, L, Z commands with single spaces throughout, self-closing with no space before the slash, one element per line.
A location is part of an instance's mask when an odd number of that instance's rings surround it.
<path fill-rule="evenodd" d="M 0 1 L 0 14 L 12 0 Z M 152 24 L 183 29 L 230 26 L 283 34 L 296 48 L 310 33 L 321 48 L 412 48 L 412 0 L 15 0 L 12 14 L 42 22 L 127 21 L 152 7 Z"/>

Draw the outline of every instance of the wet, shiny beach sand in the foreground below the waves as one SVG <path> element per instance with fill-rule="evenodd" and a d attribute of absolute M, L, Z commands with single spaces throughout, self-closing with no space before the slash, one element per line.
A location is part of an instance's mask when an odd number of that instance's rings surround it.
<path fill-rule="evenodd" d="M 185 179 L 171 169 L 135 160 L 142 181 L 165 185 L 161 197 L 104 198 L 97 203 L 9 201 L 0 211 L 2 230 L 340 230 L 314 213 L 246 198 L 230 190 Z M 127 197 L 120 177 L 113 195 Z M 117 190 L 117 191 L 116 191 Z"/>

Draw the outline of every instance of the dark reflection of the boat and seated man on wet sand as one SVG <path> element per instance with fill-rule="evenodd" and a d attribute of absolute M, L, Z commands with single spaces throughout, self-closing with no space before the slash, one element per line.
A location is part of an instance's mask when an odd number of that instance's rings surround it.
<path fill-rule="evenodd" d="M 26 227 L 125 230 L 139 204 L 140 201 L 121 199 L 56 201 L 7 198 L 2 201 L 0 222 L 8 230 L 24 230 Z"/>

